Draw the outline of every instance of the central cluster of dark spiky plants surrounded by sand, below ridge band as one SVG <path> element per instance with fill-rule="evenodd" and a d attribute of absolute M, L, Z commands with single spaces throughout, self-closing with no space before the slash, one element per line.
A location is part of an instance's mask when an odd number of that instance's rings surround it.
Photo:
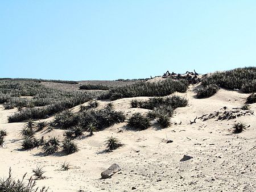
<path fill-rule="evenodd" d="M 154 97 L 147 101 L 132 100 L 131 107 L 147 108 L 146 116 L 136 113 L 128 120 L 128 126 L 144 130 L 150 126 L 150 120 L 155 120 L 163 127 L 170 126 L 170 117 L 175 108 L 188 105 L 187 99 L 174 95 L 172 97 Z"/>

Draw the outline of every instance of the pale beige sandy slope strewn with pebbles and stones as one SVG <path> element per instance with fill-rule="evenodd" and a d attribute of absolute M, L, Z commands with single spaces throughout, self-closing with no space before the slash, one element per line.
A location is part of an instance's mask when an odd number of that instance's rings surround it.
<path fill-rule="evenodd" d="M 0 176 L 7 176 L 11 167 L 16 178 L 21 178 L 24 173 L 29 178 L 32 169 L 40 165 L 44 166 L 47 178 L 36 183 L 49 186 L 49 191 L 256 191 L 255 115 L 233 120 L 209 119 L 203 122 L 197 119 L 196 123 L 189 123 L 196 116 L 213 113 L 224 106 L 240 107 L 248 94 L 221 89 L 213 97 L 196 99 L 192 89 L 179 94 L 189 100 L 189 105 L 177 108 L 169 128 L 153 125 L 148 130 L 131 131 L 126 123 L 117 124 L 96 132 L 92 137 L 76 139 L 80 151 L 68 156 L 61 153 L 42 156 L 40 149 L 36 148 L 20 150 L 19 131 L 24 123 L 7 123 L 7 116 L 16 110 L 3 110 L 1 106 L 0 129 L 5 128 L 8 136 L 5 146 L 0 148 Z M 114 101 L 115 109 L 125 111 L 127 116 L 147 111 L 130 108 L 131 99 Z M 100 102 L 100 105 L 106 103 Z M 255 111 L 256 103 L 250 108 Z M 77 109 L 78 106 L 73 111 Z M 231 133 L 232 124 L 240 121 L 250 127 L 240 134 Z M 58 136 L 62 139 L 62 135 L 63 130 L 36 133 L 36 136 L 45 138 Z M 124 145 L 114 152 L 105 153 L 104 141 L 112 135 Z M 174 142 L 167 144 L 166 139 Z M 180 162 L 183 155 L 193 158 Z M 59 170 L 64 161 L 72 168 Z M 121 171 L 100 180 L 101 172 L 113 163 L 117 163 Z M 131 190 L 132 187 L 136 189 Z"/>

